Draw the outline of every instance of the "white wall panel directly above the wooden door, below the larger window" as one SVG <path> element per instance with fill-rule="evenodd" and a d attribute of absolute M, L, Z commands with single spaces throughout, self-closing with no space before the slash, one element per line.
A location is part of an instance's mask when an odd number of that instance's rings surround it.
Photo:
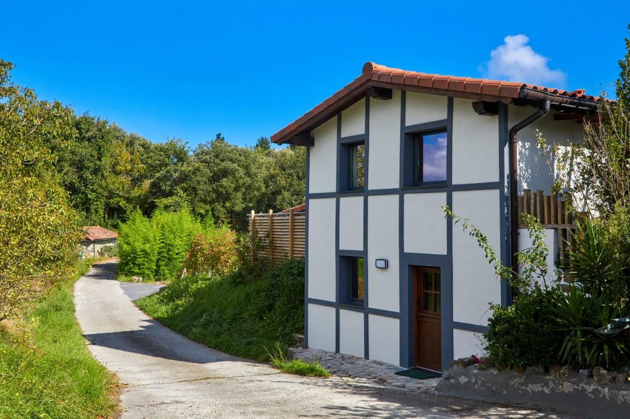
<path fill-rule="evenodd" d="M 446 254 L 446 193 L 404 195 L 404 251 Z"/>

